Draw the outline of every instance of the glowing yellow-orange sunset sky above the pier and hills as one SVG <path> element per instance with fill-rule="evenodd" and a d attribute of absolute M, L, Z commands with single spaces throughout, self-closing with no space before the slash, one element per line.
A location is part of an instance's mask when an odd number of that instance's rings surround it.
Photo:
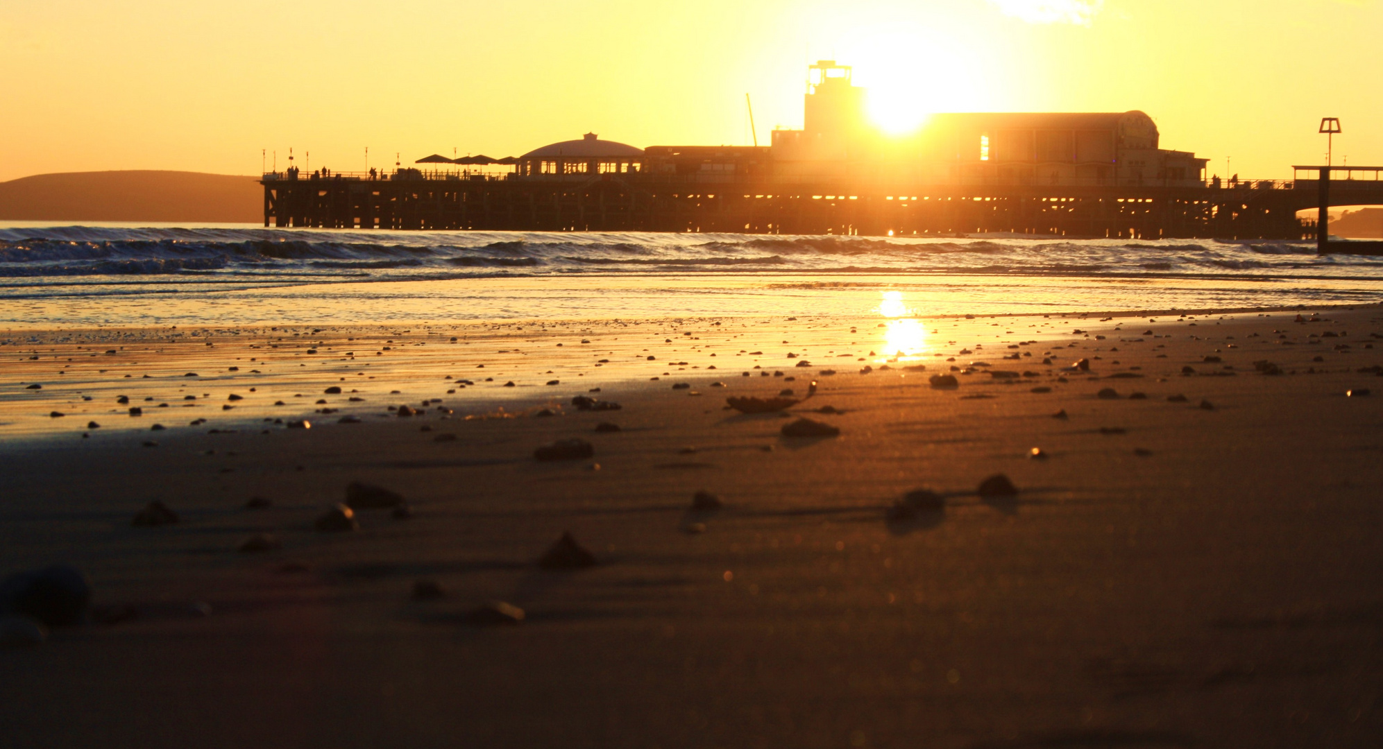
<path fill-rule="evenodd" d="M 1379 0 L 0 0 L 0 180 L 360 170 L 579 137 L 747 144 L 799 127 L 808 59 L 880 116 L 1142 109 L 1212 170 L 1383 163 Z"/>

